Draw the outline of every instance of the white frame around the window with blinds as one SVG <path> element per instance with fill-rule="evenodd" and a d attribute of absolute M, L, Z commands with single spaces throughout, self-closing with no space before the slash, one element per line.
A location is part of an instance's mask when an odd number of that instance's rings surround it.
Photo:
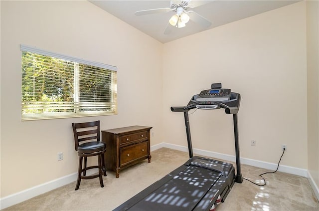
<path fill-rule="evenodd" d="M 63 59 L 67 61 L 73 62 L 75 65 L 76 63 L 81 63 L 84 65 L 90 65 L 97 68 L 103 68 L 107 69 L 109 71 L 113 71 L 112 73 L 112 82 L 111 82 L 111 97 L 113 100 L 110 100 L 109 102 L 110 107 L 112 107 L 111 111 L 80 111 L 76 112 L 78 109 L 78 105 L 81 104 L 81 101 L 76 102 L 76 100 L 73 98 L 73 101 L 70 101 L 71 104 L 73 104 L 74 111 L 73 112 L 48 112 L 48 113 L 29 113 L 29 114 L 23 114 L 23 102 L 22 101 L 22 94 L 23 90 L 21 89 L 21 120 L 27 121 L 27 120 L 39 120 L 39 119 L 58 119 L 58 118 L 73 118 L 73 117 L 85 117 L 85 116 L 104 116 L 104 115 L 117 115 L 117 67 L 103 64 L 99 62 L 94 61 L 88 61 L 80 58 L 76 58 L 73 56 L 68 56 L 60 53 L 54 53 L 47 50 L 39 49 L 37 47 L 28 46 L 21 44 L 20 45 L 21 50 L 21 67 L 22 67 L 22 51 L 27 51 L 31 53 L 40 54 L 43 56 L 49 56 L 54 57 L 57 59 Z M 73 85 L 79 83 L 78 81 L 74 81 Z M 21 86 L 22 86 L 22 80 L 21 80 Z M 35 101 L 35 102 L 43 102 L 43 101 Z M 84 101 L 82 101 L 84 102 Z M 36 103 L 35 103 L 36 104 Z M 54 102 L 52 102 L 54 104 Z M 97 103 L 98 104 L 98 103 Z M 72 106 L 71 106 L 72 107 Z"/>

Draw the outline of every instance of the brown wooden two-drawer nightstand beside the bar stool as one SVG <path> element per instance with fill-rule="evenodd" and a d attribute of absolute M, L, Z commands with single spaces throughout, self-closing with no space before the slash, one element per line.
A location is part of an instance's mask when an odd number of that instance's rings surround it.
<path fill-rule="evenodd" d="M 105 166 L 116 173 L 142 160 L 149 159 L 151 163 L 152 127 L 130 126 L 102 130 L 102 141 L 106 143 Z"/>

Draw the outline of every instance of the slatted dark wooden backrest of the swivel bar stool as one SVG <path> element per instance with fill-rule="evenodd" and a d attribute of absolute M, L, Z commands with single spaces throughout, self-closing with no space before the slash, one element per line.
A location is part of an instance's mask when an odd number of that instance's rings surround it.
<path fill-rule="evenodd" d="M 72 123 L 75 150 L 82 141 L 100 141 L 100 120 L 95 122 Z"/>

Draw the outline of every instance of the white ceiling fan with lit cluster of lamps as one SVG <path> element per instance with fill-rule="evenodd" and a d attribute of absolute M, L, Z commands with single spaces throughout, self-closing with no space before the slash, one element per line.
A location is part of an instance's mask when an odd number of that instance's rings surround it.
<path fill-rule="evenodd" d="M 195 8 L 197 6 L 203 5 L 207 1 L 197 1 L 197 0 L 170 0 L 170 7 L 165 8 L 156 8 L 156 9 L 147 9 L 136 11 L 135 15 L 146 15 L 146 14 L 155 14 L 162 12 L 173 11 L 174 14 L 168 20 L 167 26 L 164 30 L 164 34 L 169 34 L 171 31 L 171 26 L 177 28 L 182 28 L 186 26 L 186 23 L 189 20 L 192 20 L 196 23 L 199 23 L 203 27 L 209 27 L 211 22 L 200 14 L 189 10 L 190 8 Z"/>

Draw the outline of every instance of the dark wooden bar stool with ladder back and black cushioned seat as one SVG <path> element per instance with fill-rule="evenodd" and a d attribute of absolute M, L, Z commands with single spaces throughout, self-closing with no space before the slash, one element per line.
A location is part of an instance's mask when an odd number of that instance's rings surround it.
<path fill-rule="evenodd" d="M 100 121 L 85 122 L 85 123 L 72 123 L 75 150 L 79 156 L 79 170 L 78 179 L 75 187 L 75 191 L 79 189 L 81 179 L 93 179 L 100 178 L 100 184 L 103 188 L 102 175 L 106 175 L 106 169 L 104 164 L 104 153 L 106 151 L 106 144 L 100 141 Z M 82 142 L 82 143 L 80 143 Z M 87 157 L 97 156 L 98 165 L 87 167 Z M 82 168 L 82 162 L 84 158 L 84 165 Z M 89 169 L 98 169 L 98 174 L 86 176 L 86 171 Z M 83 172 L 83 175 L 82 175 Z"/>

